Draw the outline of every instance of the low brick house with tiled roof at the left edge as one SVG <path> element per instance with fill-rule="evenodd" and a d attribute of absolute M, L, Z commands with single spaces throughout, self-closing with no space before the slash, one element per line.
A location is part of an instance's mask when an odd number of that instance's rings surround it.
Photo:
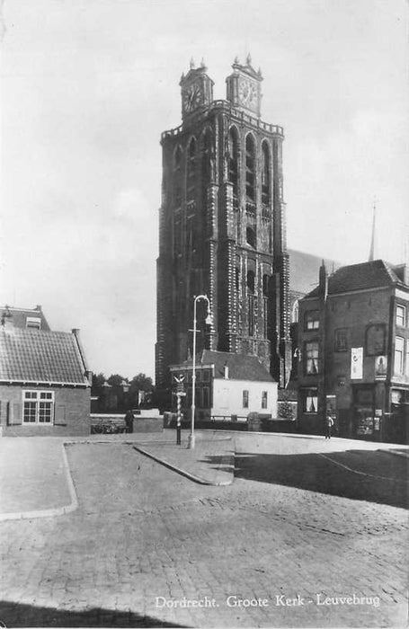
<path fill-rule="evenodd" d="M 0 357 L 0 434 L 89 434 L 91 372 L 77 330 L 50 331 L 40 306 L 4 306 Z"/>

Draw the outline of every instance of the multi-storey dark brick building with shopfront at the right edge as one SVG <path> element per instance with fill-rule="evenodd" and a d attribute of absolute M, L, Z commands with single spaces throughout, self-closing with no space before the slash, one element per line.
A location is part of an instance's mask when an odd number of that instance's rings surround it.
<path fill-rule="evenodd" d="M 344 266 L 299 301 L 298 423 L 402 441 L 409 421 L 409 277 L 382 260 Z"/>

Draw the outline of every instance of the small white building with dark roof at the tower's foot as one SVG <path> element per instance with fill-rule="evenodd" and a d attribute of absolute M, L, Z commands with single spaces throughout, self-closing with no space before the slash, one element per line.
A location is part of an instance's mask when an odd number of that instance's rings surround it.
<path fill-rule="evenodd" d="M 172 365 L 171 373 L 182 376 L 186 397 L 182 407 L 191 407 L 192 360 Z M 198 419 L 247 419 L 249 412 L 277 417 L 278 385 L 256 356 L 203 350 L 196 358 L 195 407 Z"/>

